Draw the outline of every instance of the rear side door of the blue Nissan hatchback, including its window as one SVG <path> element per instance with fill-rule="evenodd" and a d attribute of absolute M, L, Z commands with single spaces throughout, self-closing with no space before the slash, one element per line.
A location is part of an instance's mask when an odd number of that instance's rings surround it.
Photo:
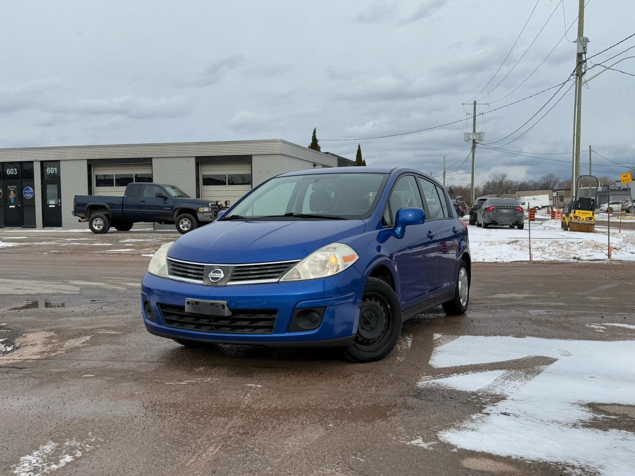
<path fill-rule="evenodd" d="M 455 286 L 460 225 L 454 219 L 443 187 L 423 177 L 418 177 L 418 182 L 424 206 L 427 207 L 425 221 L 437 244 L 437 286 L 434 293 L 441 296 Z M 429 220 L 427 216 L 430 216 Z"/>

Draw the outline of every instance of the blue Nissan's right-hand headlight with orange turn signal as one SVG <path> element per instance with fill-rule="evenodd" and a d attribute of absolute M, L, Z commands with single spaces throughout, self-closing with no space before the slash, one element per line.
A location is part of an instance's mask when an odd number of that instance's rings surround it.
<path fill-rule="evenodd" d="M 341 273 L 359 258 L 347 244 L 331 243 L 314 251 L 291 268 L 280 281 L 318 279 Z"/>

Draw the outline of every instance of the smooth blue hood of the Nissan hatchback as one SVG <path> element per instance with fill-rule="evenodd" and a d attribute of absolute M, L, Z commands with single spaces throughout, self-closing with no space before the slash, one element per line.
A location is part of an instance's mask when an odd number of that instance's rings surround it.
<path fill-rule="evenodd" d="M 298 260 L 365 226 L 362 220 L 221 220 L 180 237 L 168 256 L 219 265 Z"/>

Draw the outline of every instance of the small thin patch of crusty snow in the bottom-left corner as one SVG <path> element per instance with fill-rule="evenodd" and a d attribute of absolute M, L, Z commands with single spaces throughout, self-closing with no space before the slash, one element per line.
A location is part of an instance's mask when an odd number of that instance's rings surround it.
<path fill-rule="evenodd" d="M 33 453 L 22 456 L 11 469 L 17 476 L 43 476 L 63 468 L 91 449 L 91 444 L 77 440 L 65 440 L 62 444 L 50 441 Z"/>

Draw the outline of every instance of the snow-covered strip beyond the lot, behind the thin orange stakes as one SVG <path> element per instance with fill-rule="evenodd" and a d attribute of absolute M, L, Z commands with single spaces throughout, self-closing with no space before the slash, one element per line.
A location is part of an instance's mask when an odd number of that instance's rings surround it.
<path fill-rule="evenodd" d="M 529 223 L 525 229 L 509 227 L 469 227 L 472 261 L 529 260 Z M 635 230 L 611 229 L 612 259 L 635 261 Z M 596 232 L 568 232 L 559 220 L 531 224 L 531 253 L 537 261 L 585 261 L 608 259 L 606 227 L 596 225 Z"/>

